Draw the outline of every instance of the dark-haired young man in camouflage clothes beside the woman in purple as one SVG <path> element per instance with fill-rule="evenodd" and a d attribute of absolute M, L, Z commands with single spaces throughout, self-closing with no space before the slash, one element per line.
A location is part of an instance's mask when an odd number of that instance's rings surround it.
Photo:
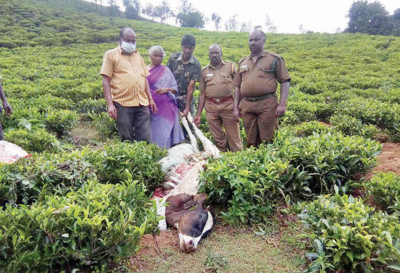
<path fill-rule="evenodd" d="M 201 65 L 193 55 L 196 47 L 196 38 L 185 35 L 181 40 L 182 52 L 172 53 L 168 59 L 167 67 L 171 70 L 178 84 L 178 102 L 181 115 L 186 116 L 190 111 L 194 116 L 193 91 L 194 85 L 200 79 Z"/>

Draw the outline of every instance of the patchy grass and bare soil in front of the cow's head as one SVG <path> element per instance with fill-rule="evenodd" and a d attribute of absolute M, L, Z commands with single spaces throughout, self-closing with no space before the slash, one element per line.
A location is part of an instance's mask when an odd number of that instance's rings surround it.
<path fill-rule="evenodd" d="M 303 245 L 291 240 L 293 228 L 263 236 L 248 228 L 216 226 L 194 253 L 179 250 L 176 231 L 158 237 L 157 253 L 153 238 L 142 241 L 142 250 L 130 260 L 131 272 L 301 272 L 305 267 Z M 168 238 L 165 240 L 165 238 Z M 164 256 L 164 258 L 162 257 Z"/>

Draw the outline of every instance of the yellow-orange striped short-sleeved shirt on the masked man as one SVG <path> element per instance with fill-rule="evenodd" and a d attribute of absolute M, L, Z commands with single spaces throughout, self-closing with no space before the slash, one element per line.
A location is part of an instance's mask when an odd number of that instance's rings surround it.
<path fill-rule="evenodd" d="M 118 46 L 108 50 L 103 57 L 101 75 L 111 78 L 112 100 L 122 106 L 147 106 L 145 78 L 150 75 L 138 51 L 128 55 Z"/>

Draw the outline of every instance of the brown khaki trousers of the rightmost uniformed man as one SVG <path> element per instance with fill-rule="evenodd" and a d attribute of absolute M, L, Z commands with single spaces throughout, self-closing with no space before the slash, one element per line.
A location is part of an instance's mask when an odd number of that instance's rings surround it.
<path fill-rule="evenodd" d="M 278 119 L 275 117 L 277 106 L 276 96 L 259 101 L 241 100 L 240 109 L 247 136 L 247 147 L 258 147 L 261 142 L 272 140 L 278 129 Z"/>

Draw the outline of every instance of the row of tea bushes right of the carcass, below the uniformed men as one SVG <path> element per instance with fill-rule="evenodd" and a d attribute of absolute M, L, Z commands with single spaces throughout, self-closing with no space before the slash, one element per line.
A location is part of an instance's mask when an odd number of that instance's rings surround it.
<path fill-rule="evenodd" d="M 272 144 L 209 159 L 201 190 L 227 207 L 226 221 L 262 222 L 283 198 L 304 199 L 344 185 L 373 166 L 380 149 L 361 137 L 327 132 L 296 138 L 283 129 Z"/>

